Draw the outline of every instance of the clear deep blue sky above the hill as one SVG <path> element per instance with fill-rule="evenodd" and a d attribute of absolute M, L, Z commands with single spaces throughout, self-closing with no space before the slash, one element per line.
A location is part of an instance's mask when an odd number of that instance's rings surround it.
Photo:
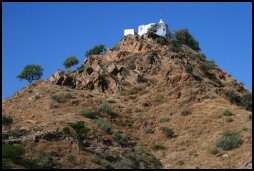
<path fill-rule="evenodd" d="M 26 86 L 16 76 L 38 64 L 48 78 L 70 55 L 80 62 L 97 44 L 112 47 L 125 28 L 159 22 L 188 28 L 201 51 L 252 89 L 252 8 L 243 3 L 2 3 L 2 98 Z M 80 64 L 79 64 L 80 65 Z M 79 66 L 78 65 L 78 66 Z"/>

